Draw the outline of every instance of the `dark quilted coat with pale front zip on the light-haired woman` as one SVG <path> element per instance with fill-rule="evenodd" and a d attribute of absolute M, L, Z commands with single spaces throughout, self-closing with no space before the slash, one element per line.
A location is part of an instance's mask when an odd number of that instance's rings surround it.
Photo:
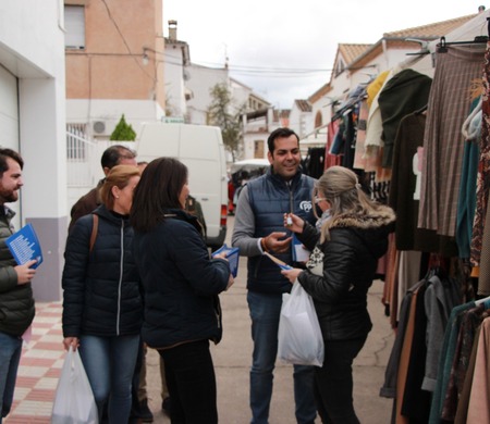
<path fill-rule="evenodd" d="M 73 226 L 64 252 L 63 335 L 99 337 L 139 334 L 143 322 L 140 279 L 133 259 L 133 228 L 127 216 L 102 204 L 91 252 L 93 214 Z"/>

